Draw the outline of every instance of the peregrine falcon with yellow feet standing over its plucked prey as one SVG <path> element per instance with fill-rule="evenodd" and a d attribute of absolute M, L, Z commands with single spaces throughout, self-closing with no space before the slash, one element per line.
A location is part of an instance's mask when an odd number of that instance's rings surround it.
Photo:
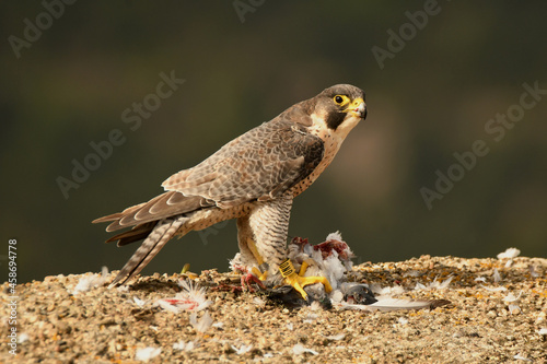
<path fill-rule="evenodd" d="M 260 280 L 281 271 L 304 297 L 305 284 L 322 282 L 328 290 L 326 279 L 302 277 L 304 267 L 294 274 L 287 259 L 292 200 L 317 179 L 365 117 L 364 92 L 334 85 L 172 175 L 162 184 L 164 193 L 96 219 L 93 223 L 110 222 L 107 232 L 132 226 L 107 243 L 144 239 L 110 286 L 139 273 L 172 237 L 236 219 L 240 261 L 248 271 Z"/>

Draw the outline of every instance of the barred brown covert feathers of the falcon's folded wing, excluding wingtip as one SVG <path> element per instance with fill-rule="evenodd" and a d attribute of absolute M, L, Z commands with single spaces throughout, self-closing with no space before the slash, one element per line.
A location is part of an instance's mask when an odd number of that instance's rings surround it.
<path fill-rule="evenodd" d="M 302 125 L 278 118 L 234 139 L 206 161 L 162 186 L 200 196 L 219 208 L 268 200 L 305 178 L 323 158 L 323 141 Z"/>

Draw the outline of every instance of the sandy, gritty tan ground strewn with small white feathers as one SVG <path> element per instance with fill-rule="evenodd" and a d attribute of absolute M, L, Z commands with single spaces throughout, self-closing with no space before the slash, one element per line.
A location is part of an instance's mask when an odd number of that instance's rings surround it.
<path fill-rule="evenodd" d="M 508 263 L 507 259 L 422 256 L 401 262 L 365 262 L 349 277 L 395 297 L 452 303 L 431 310 L 326 310 L 315 305 L 288 309 L 258 292 L 230 289 L 237 278 L 216 270 L 193 280 L 205 289 L 210 303 L 202 306 L 209 306 L 187 310 L 158 303 L 184 296 L 179 274 L 139 278 L 125 290 L 108 290 L 112 278 L 57 275 L 18 285 L 16 325 L 9 319 L 13 308 L 10 286 L 2 284 L 0 360 L 547 362 L 547 259 L 519 257 Z M 18 334 L 16 355 L 9 352 L 12 328 Z"/>

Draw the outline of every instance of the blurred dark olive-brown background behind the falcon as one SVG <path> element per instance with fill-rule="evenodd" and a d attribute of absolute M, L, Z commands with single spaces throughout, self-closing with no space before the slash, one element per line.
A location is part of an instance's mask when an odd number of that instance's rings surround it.
<path fill-rule="evenodd" d="M 365 90 L 369 117 L 295 200 L 290 236 L 340 231 L 356 262 L 513 246 L 547 256 L 547 95 L 501 140 L 485 130 L 515 109 L 523 83 L 547 89 L 546 2 L 49 3 L 50 23 L 38 1 L 1 5 L 0 281 L 9 238 L 20 281 L 121 268 L 137 245 L 104 244 L 93 219 L 154 197 L 171 174 L 336 83 Z M 424 7 L 435 14 L 408 25 Z M 37 22 L 39 37 L 21 43 Z M 407 40 L 379 62 L 389 30 Z M 173 71 L 184 84 L 131 130 L 123 113 Z M 114 129 L 125 142 L 66 198 L 57 179 Z M 476 140 L 489 153 L 428 209 L 420 190 Z M 226 271 L 236 251 L 230 222 L 170 243 L 143 273 Z"/>

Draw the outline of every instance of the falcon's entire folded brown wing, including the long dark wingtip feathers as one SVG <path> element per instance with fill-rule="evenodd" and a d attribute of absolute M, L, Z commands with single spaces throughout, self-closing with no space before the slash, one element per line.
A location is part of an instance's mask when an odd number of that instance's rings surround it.
<path fill-rule="evenodd" d="M 276 118 L 197 166 L 171 176 L 162 184 L 167 192 L 93 223 L 112 222 L 107 232 L 136 225 L 108 239 L 125 245 L 146 237 L 161 219 L 274 199 L 305 178 L 323 158 L 323 141 L 306 133 L 303 126 Z"/>

